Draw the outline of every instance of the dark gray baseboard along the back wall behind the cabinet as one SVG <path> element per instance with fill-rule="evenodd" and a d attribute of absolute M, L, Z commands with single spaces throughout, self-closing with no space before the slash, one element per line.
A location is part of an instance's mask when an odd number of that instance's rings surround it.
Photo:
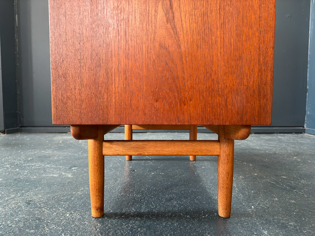
<path fill-rule="evenodd" d="M 70 126 L 34 126 L 34 127 L 21 127 L 5 130 L 6 134 L 11 133 L 68 133 L 70 132 Z M 112 132 L 124 132 L 124 126 L 120 126 L 114 129 Z M 189 130 L 134 130 L 134 133 L 146 133 L 146 132 L 182 132 L 187 133 Z M 212 133 L 210 130 L 199 126 L 199 133 Z M 310 133 L 315 134 L 314 129 L 308 129 L 304 127 L 257 127 L 251 128 L 251 133 Z"/>

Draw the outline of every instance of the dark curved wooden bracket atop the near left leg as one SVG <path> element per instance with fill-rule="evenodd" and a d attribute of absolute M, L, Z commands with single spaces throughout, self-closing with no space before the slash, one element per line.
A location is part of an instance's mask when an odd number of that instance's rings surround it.
<path fill-rule="evenodd" d="M 111 132 L 120 125 L 103 125 L 104 134 Z M 71 125 L 72 137 L 78 140 L 97 139 L 98 125 Z"/>

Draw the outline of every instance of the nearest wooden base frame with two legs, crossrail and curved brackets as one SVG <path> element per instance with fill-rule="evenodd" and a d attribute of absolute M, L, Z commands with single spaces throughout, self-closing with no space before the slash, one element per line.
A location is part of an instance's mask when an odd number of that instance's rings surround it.
<path fill-rule="evenodd" d="M 93 217 L 104 214 L 104 155 L 218 155 L 219 215 L 231 214 L 234 139 L 249 136 L 250 126 L 209 126 L 219 140 L 106 140 L 119 125 L 72 125 L 76 139 L 89 139 L 89 178 Z M 132 130 L 131 125 L 128 127 Z M 192 127 L 194 129 L 196 127 Z M 194 135 L 192 135 L 194 136 Z M 132 137 L 127 137 L 132 139 Z"/>

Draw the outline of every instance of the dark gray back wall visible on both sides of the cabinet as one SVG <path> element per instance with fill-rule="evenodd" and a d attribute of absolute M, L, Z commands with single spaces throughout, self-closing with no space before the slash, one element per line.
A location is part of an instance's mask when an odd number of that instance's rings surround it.
<path fill-rule="evenodd" d="M 17 0 L 17 14 L 21 125 L 52 126 L 48 0 Z M 304 131 L 309 16 L 310 0 L 277 1 L 272 127 L 291 128 L 276 132 Z"/>

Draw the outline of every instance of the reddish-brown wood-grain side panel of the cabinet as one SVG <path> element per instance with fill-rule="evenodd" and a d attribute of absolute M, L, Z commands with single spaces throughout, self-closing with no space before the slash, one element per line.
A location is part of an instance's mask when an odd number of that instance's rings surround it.
<path fill-rule="evenodd" d="M 275 0 L 49 0 L 54 124 L 271 123 Z"/>

